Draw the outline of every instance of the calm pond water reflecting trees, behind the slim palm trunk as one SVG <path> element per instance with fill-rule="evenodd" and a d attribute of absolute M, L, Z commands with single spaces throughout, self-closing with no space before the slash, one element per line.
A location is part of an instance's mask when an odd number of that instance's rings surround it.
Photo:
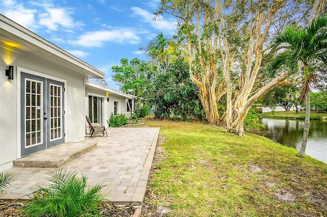
<path fill-rule="evenodd" d="M 263 118 L 261 123 L 271 133 L 267 138 L 288 147 L 300 149 L 304 120 Z M 310 120 L 306 154 L 327 164 L 327 120 Z"/>

